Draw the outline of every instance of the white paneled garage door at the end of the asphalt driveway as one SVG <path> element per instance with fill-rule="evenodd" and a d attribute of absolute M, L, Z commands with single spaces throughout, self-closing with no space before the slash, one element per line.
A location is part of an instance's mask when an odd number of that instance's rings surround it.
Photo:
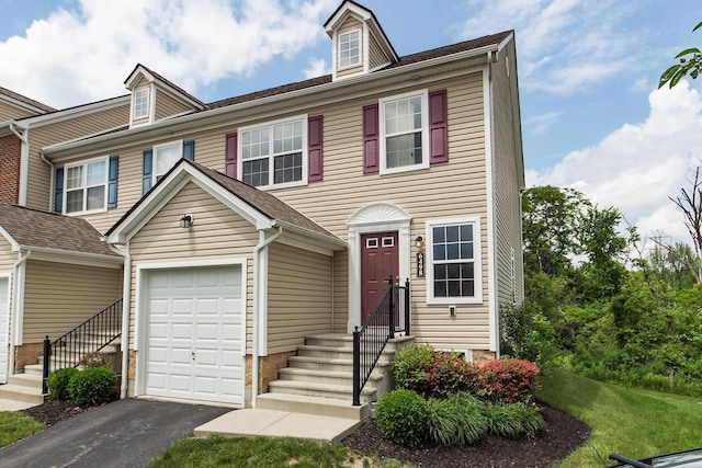
<path fill-rule="evenodd" d="M 244 404 L 241 267 L 148 274 L 147 395 Z"/>

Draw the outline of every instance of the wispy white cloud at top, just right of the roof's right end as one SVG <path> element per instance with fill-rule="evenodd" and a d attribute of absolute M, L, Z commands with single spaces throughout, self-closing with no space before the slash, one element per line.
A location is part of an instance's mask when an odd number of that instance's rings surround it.
<path fill-rule="evenodd" d="M 463 38 L 514 30 L 520 85 L 570 94 L 639 65 L 632 45 L 641 37 L 622 27 L 635 9 L 616 0 L 467 0 Z"/>

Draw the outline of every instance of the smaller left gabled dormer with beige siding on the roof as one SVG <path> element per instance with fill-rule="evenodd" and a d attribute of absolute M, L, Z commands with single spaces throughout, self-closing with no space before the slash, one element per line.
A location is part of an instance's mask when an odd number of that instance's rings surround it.
<path fill-rule="evenodd" d="M 124 84 L 132 91 L 129 127 L 205 109 L 202 101 L 141 64 L 137 64 Z"/>

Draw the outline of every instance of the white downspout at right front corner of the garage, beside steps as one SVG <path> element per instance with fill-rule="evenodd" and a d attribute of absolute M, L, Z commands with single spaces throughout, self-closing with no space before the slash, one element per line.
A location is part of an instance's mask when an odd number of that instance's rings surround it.
<path fill-rule="evenodd" d="M 259 395 L 259 356 L 260 356 L 260 338 L 262 332 L 262 319 L 265 318 L 264 312 L 268 307 L 265 295 L 268 283 L 268 246 L 274 242 L 283 233 L 283 227 L 279 226 L 278 230 L 270 237 L 265 237 L 265 231 L 260 231 L 261 240 L 253 249 L 253 321 L 251 330 L 251 406 L 256 408 L 256 397 Z M 242 272 L 246 274 L 246 272 Z M 265 336 L 264 333 L 262 333 Z M 246 345 L 244 346 L 246 349 Z"/>

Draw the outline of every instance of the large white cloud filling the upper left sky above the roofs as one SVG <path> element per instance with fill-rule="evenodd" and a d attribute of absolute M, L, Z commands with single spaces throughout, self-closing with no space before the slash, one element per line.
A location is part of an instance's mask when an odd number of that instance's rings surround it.
<path fill-rule="evenodd" d="M 137 62 L 190 92 L 325 37 L 336 0 L 79 0 L 0 43 L 0 82 L 56 107 L 126 91 Z"/>

